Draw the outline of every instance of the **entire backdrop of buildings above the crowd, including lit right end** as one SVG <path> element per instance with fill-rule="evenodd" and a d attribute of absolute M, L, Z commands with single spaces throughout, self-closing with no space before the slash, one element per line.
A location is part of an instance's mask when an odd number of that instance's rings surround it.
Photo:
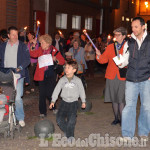
<path fill-rule="evenodd" d="M 148 7 L 145 0 L 0 0 L 0 29 L 15 25 L 36 31 L 39 20 L 40 33 L 52 36 L 58 30 L 67 36 L 87 29 L 94 37 L 119 26 L 130 33 L 135 16 L 150 20 L 150 0 L 147 2 Z"/>

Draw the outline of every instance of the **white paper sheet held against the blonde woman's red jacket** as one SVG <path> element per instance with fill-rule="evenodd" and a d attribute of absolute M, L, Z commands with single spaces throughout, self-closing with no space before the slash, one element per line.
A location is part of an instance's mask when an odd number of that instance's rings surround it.
<path fill-rule="evenodd" d="M 54 65 L 51 54 L 42 55 L 38 58 L 39 68 Z"/>

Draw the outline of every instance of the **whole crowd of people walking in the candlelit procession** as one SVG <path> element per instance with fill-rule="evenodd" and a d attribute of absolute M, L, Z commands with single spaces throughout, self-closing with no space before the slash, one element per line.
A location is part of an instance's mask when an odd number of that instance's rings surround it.
<path fill-rule="evenodd" d="M 81 98 L 82 108 L 86 107 L 85 76 L 94 78 L 95 60 L 107 63 L 105 102 L 112 102 L 114 120 L 112 125 L 122 127 L 122 140 L 134 137 L 136 105 L 140 95 L 141 109 L 138 120 L 138 134 L 148 139 L 150 129 L 150 36 L 141 17 L 133 19 L 132 34 L 119 27 L 113 31 L 115 41 L 106 35 L 95 40 L 96 50 L 84 34 L 74 32 L 65 39 L 62 33 L 54 38 L 45 34 L 38 38 L 30 31 L 18 31 L 14 26 L 0 31 L 0 67 L 15 68 L 18 77 L 15 98 L 15 115 L 24 127 L 23 87 L 39 86 L 40 117 L 46 117 L 46 99 L 49 108 L 57 114 L 56 121 L 67 138 L 74 137 L 77 101 Z M 117 61 L 114 60 L 117 58 Z M 62 69 L 64 67 L 64 69 Z M 33 79 L 34 76 L 34 79 Z M 58 82 L 58 83 L 57 83 Z M 55 102 L 61 92 L 61 104 Z M 67 120 L 66 120 L 67 118 Z"/>

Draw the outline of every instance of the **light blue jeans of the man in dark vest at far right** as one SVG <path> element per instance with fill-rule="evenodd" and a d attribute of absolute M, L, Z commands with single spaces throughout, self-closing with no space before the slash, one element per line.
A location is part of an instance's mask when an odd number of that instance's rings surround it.
<path fill-rule="evenodd" d="M 138 135 L 148 136 L 150 131 L 150 80 L 139 83 L 126 81 L 126 106 L 122 112 L 122 136 L 133 137 L 136 127 L 136 106 L 140 94 L 140 115 L 138 118 Z"/>

